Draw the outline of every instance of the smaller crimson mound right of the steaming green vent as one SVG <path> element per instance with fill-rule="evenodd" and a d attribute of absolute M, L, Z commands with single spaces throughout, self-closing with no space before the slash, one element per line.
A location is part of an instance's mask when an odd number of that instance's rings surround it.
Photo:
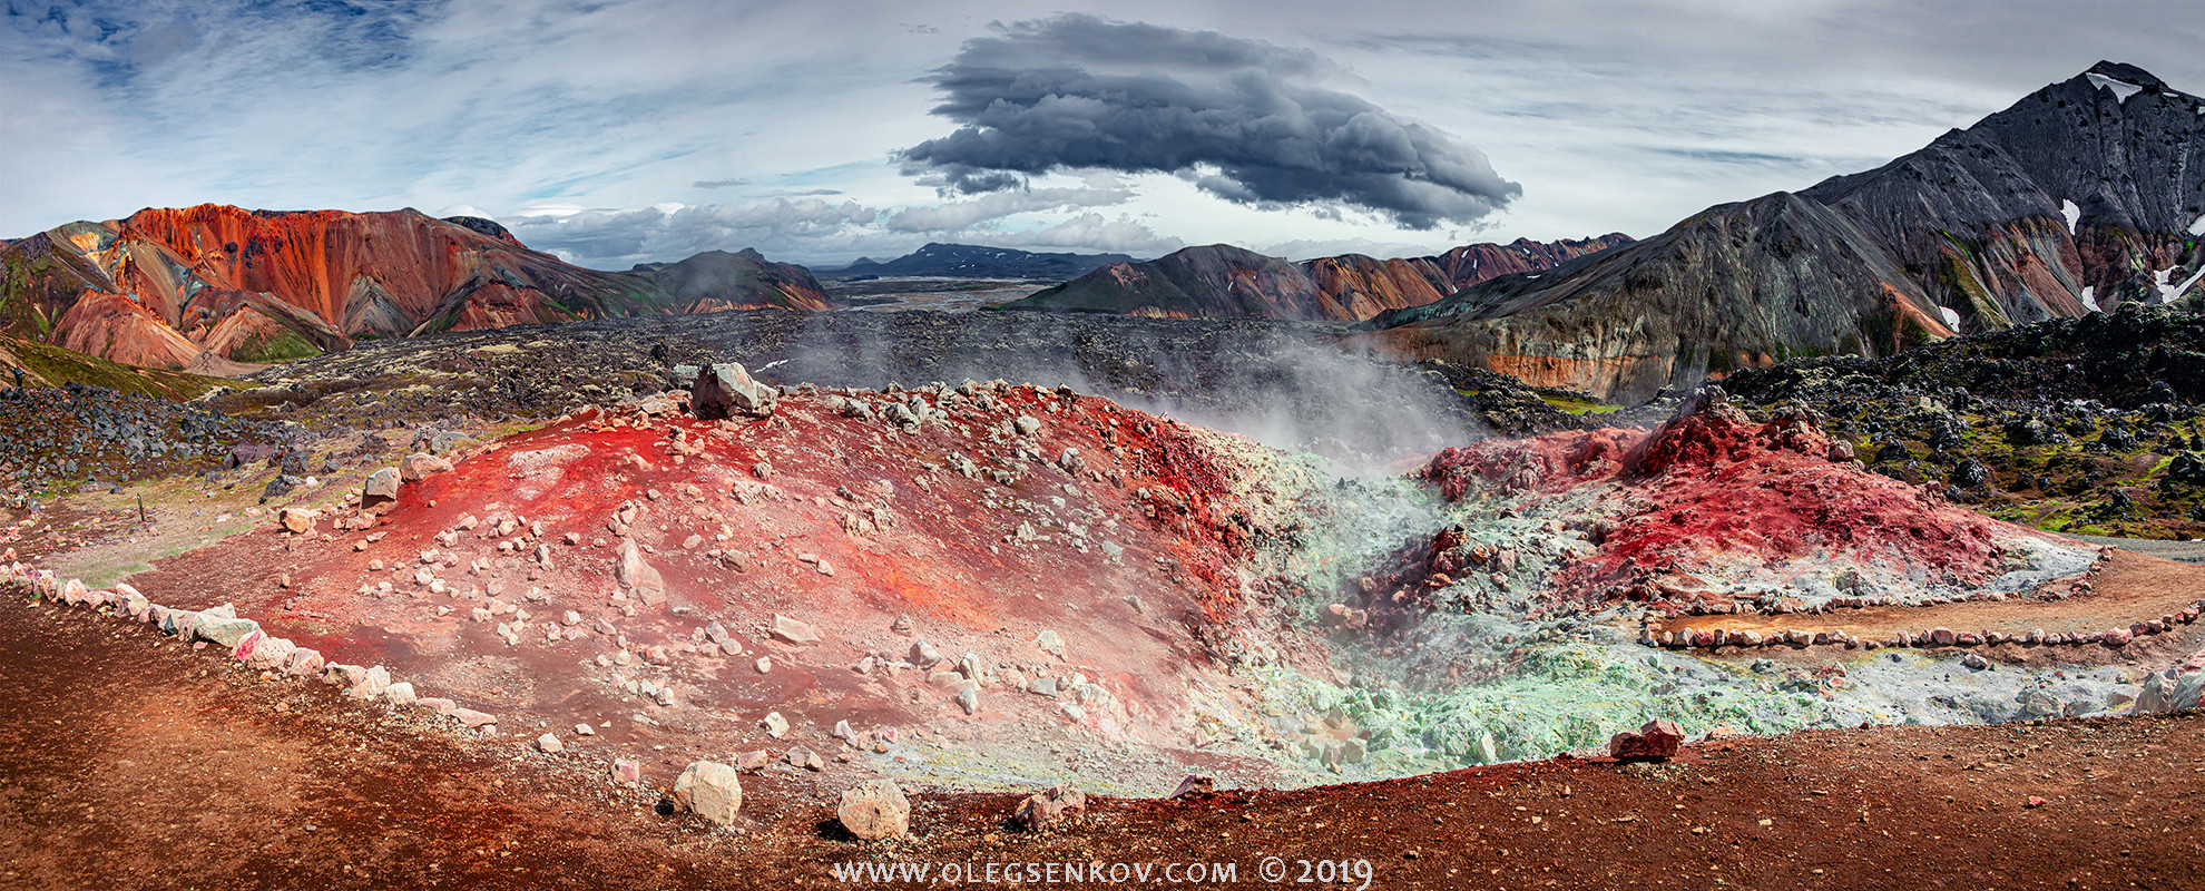
<path fill-rule="evenodd" d="M 1806 419 L 1753 423 L 1720 401 L 1652 434 L 1557 432 L 1449 448 L 1420 476 L 1449 501 L 1590 498 L 1570 509 L 1599 520 L 1601 547 L 1555 578 L 1557 598 L 1583 604 L 1729 602 L 1735 591 L 1718 584 L 1724 576 L 1782 582 L 1832 567 L 1850 569 L 1863 593 L 1876 580 L 1976 587 L 2013 569 L 2018 547 L 2088 549 L 1870 474 L 1835 457 Z"/>

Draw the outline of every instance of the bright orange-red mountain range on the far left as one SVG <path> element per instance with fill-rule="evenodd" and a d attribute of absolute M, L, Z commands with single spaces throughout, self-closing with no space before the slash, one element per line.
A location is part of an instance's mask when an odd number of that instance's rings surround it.
<path fill-rule="evenodd" d="M 0 243 L 0 333 L 207 373 L 357 337 L 833 307 L 809 271 L 756 251 L 598 271 L 534 251 L 498 223 L 415 210 L 150 207 Z"/>

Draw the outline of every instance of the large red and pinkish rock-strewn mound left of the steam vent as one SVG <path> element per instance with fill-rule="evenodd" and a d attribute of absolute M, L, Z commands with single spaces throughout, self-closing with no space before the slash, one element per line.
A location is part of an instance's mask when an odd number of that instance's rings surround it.
<path fill-rule="evenodd" d="M 646 406 L 657 415 L 591 412 L 406 485 L 368 529 L 335 529 L 351 509 L 304 536 L 262 527 L 132 584 L 185 609 L 236 602 L 271 635 L 388 666 L 507 730 L 589 721 L 591 745 L 644 756 L 675 739 L 833 754 L 827 732 L 847 719 L 897 728 L 897 745 L 849 752 L 858 765 L 836 772 L 1023 745 L 1001 770 L 1041 774 L 1085 763 L 1096 741 L 1182 750 L 1127 765 L 1142 787 L 1226 765 L 1193 730 L 1246 706 L 1224 670 L 1255 633 L 1235 567 L 1294 516 L 1257 485 L 1268 452 L 1069 390 L 968 393 L 849 397 L 873 417 L 803 393 L 765 421 L 697 421 L 670 399 Z M 891 404 L 935 419 L 902 432 Z M 1021 434 L 1019 417 L 1039 430 Z M 622 538 L 664 578 L 662 602 L 617 576 Z M 776 615 L 822 640 L 772 637 Z M 908 631 L 891 629 L 897 615 Z M 708 640 L 714 624 L 739 655 Z M 906 664 L 919 640 L 944 664 Z M 975 715 L 931 677 L 966 653 L 988 675 Z M 1036 677 L 1072 684 L 1025 693 Z M 767 710 L 789 719 L 785 739 L 759 730 Z"/>

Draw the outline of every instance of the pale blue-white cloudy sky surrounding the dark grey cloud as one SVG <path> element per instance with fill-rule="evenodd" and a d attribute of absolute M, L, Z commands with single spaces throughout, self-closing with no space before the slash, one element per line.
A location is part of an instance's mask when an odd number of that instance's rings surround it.
<path fill-rule="evenodd" d="M 1387 254 L 1649 236 L 1711 203 L 1914 150 L 2099 55 L 2205 90 L 2205 18 L 2176 0 L 2090 15 L 2051 0 L 1372 0 L 1349 18 L 1308 0 L 1050 7 L 1308 49 L 1338 64 L 1343 90 L 1477 146 L 1524 185 L 1482 221 L 1491 229 L 1407 232 L 1372 214 L 1239 205 L 1217 196 L 1228 181 L 1204 192 L 1162 174 L 1052 176 L 1003 205 L 944 203 L 891 152 L 953 130 L 928 115 L 942 95 L 919 77 L 992 20 L 1036 15 L 1010 0 L 759 2 L 741 15 L 706 0 L 4 9 L 0 236 L 201 201 L 467 207 L 531 243 L 609 251 L 600 260 L 756 245 L 836 262 L 922 240 L 1076 234 L 1098 243 L 1067 249 L 1230 240 Z M 1094 192 L 1050 194 L 1080 187 Z M 1111 201 L 1116 190 L 1131 194 Z M 845 205 L 875 216 L 856 223 Z M 997 214 L 1005 207 L 1021 210 Z"/>

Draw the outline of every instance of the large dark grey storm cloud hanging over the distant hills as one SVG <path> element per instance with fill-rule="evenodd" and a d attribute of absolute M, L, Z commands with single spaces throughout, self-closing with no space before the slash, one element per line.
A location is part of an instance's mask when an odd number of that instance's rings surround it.
<path fill-rule="evenodd" d="M 904 150 L 904 172 L 997 192 L 1052 170 L 1173 172 L 1228 201 L 1365 207 L 1429 229 L 1524 190 L 1486 157 L 1363 97 L 1310 51 L 1094 15 L 999 26 L 926 82 L 961 128 Z"/>

